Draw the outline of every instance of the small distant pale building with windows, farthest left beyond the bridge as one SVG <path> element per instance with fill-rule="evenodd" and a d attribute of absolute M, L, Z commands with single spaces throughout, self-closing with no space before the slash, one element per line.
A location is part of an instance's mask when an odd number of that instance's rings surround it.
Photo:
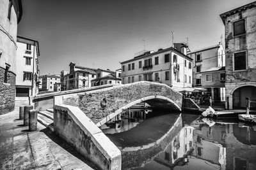
<path fill-rule="evenodd" d="M 42 78 L 42 89 L 40 91 L 54 92 L 54 84 L 60 83 L 60 75 L 58 74 L 43 75 L 40 78 Z"/>

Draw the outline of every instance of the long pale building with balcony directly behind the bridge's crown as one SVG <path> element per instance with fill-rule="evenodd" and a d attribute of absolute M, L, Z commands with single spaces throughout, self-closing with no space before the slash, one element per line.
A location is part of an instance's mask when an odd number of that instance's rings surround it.
<path fill-rule="evenodd" d="M 186 55 L 188 46 L 174 44 L 174 48 L 145 52 L 122 64 L 122 83 L 155 81 L 170 87 L 192 86 L 192 60 Z"/>

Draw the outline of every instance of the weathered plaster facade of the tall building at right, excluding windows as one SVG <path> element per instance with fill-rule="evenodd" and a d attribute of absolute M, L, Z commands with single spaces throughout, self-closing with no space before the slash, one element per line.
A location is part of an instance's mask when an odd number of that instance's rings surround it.
<path fill-rule="evenodd" d="M 233 23 L 240 18 L 245 19 L 246 34 L 233 36 Z M 241 85 L 256 83 L 256 8 L 241 10 L 239 13 L 225 18 L 226 48 L 226 108 L 233 108 L 232 91 Z M 246 70 L 234 71 L 234 53 L 246 51 Z M 229 106 L 229 107 L 228 107 Z"/>

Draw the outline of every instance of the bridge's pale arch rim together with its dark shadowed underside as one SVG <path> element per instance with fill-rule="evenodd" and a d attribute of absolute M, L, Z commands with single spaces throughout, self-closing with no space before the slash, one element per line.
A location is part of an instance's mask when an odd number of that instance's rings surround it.
<path fill-rule="evenodd" d="M 169 108 L 170 110 L 181 111 L 180 106 L 177 103 L 175 103 L 174 101 L 172 101 L 172 99 L 169 99 L 168 97 L 147 96 L 147 97 L 143 97 L 142 99 L 132 101 L 131 103 L 123 106 L 122 108 L 119 108 L 115 112 L 109 114 L 106 118 L 103 118 L 102 120 L 100 120 L 100 122 L 98 122 L 96 125 L 98 127 L 100 127 L 101 125 L 106 124 L 106 122 L 108 122 L 111 118 L 114 118 L 116 115 L 119 115 L 120 113 L 122 113 L 122 111 L 124 111 L 125 109 L 130 108 L 134 104 L 141 103 L 144 101 L 146 103 L 150 104 L 150 106 L 152 106 L 152 107 L 165 108 L 165 109 Z"/>

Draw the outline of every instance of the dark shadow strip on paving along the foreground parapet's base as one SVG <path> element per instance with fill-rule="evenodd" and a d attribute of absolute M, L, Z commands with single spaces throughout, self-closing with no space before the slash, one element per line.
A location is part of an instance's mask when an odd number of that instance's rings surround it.
<path fill-rule="evenodd" d="M 51 124 L 51 125 L 53 126 L 53 124 Z M 40 132 L 44 132 L 44 134 L 48 138 L 50 138 L 54 143 L 59 145 L 61 148 L 66 150 L 68 153 L 70 153 L 71 155 L 73 155 L 77 159 L 83 161 L 85 164 L 87 164 L 88 166 L 92 167 L 93 169 L 96 169 L 95 166 L 93 166 L 92 162 L 89 162 L 88 160 L 86 160 L 83 157 L 83 155 L 81 155 L 76 150 L 74 150 L 74 148 L 72 148 L 72 146 L 68 145 L 68 143 L 63 141 L 63 139 L 61 139 L 59 136 L 57 136 L 54 132 L 50 131 L 48 128 L 42 129 Z"/>

